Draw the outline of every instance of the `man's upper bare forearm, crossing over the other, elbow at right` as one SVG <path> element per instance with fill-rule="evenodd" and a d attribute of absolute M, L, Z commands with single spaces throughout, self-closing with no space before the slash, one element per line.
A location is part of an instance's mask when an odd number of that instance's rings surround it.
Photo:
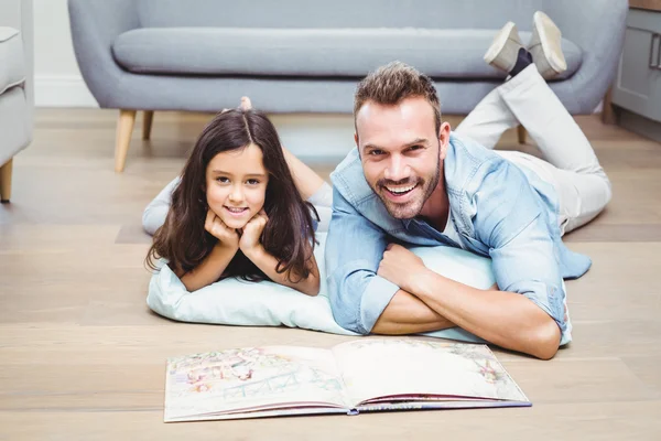
<path fill-rule="evenodd" d="M 411 291 L 440 316 L 490 343 L 540 358 L 557 351 L 560 327 L 522 294 L 480 290 L 433 271 Z"/>

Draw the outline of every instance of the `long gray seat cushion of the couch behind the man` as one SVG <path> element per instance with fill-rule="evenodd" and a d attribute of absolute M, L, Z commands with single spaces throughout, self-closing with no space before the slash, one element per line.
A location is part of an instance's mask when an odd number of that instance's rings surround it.
<path fill-rule="evenodd" d="M 126 32 L 117 62 L 138 74 L 362 77 L 400 60 L 434 78 L 502 78 L 483 56 L 497 30 L 151 28 Z M 523 41 L 530 33 L 521 32 Z M 563 40 L 571 76 L 582 52 Z"/>

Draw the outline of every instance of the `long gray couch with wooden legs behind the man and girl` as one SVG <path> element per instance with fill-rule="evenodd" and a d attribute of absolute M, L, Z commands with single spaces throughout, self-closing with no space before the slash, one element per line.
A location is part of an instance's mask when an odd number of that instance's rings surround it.
<path fill-rule="evenodd" d="M 136 110 L 217 111 L 249 95 L 268 112 L 351 112 L 356 82 L 392 60 L 435 80 L 447 114 L 467 114 L 503 75 L 483 55 L 512 20 L 561 28 L 568 71 L 552 83 L 572 114 L 610 85 L 627 0 L 69 0 L 76 57 L 102 108 L 120 109 L 116 170 Z"/>

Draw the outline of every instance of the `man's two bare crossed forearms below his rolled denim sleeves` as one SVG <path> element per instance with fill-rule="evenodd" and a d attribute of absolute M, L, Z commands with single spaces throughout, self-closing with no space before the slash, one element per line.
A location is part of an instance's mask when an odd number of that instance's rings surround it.
<path fill-rule="evenodd" d="M 400 245 L 383 252 L 377 275 L 400 290 L 377 320 L 373 333 L 410 334 L 456 325 L 487 342 L 542 359 L 557 351 L 555 321 L 519 293 L 451 280 L 427 269 Z"/>

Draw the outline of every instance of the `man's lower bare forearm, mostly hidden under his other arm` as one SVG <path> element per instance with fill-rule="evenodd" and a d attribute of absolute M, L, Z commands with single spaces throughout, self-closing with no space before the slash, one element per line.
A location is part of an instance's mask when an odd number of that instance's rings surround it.
<path fill-rule="evenodd" d="M 445 330 L 455 324 L 438 315 L 415 295 L 399 290 L 377 320 L 375 334 L 401 335 Z"/>

